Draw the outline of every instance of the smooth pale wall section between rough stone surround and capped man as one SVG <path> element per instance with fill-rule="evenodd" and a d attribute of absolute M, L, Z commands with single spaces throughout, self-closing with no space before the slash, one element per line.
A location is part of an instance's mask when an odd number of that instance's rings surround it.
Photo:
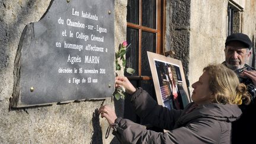
<path fill-rule="evenodd" d="M 227 5 L 228 1 L 191 2 L 190 85 L 199 79 L 206 65 L 225 60 Z"/>

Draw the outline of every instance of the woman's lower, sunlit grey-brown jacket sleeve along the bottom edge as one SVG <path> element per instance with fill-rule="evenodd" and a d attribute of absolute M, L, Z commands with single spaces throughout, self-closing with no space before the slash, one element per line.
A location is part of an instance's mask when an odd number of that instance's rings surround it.
<path fill-rule="evenodd" d="M 116 119 L 113 135 L 121 143 L 219 143 L 220 124 L 216 120 L 201 120 L 166 133 L 146 130 L 145 126 L 127 119 Z M 227 140 L 227 143 L 230 143 Z"/>

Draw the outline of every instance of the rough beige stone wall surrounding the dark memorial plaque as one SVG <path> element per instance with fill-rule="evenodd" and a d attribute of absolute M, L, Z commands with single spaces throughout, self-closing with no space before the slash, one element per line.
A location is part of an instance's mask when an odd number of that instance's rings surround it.
<path fill-rule="evenodd" d="M 25 25 L 40 20 L 49 4 L 50 0 L 0 1 L 0 143 L 117 143 L 111 134 L 105 139 L 108 123 L 97 112 L 103 100 L 9 108 L 21 33 Z M 126 5 L 126 0 L 115 1 L 116 50 L 126 40 Z M 107 98 L 104 104 L 123 115 L 122 100 Z"/>

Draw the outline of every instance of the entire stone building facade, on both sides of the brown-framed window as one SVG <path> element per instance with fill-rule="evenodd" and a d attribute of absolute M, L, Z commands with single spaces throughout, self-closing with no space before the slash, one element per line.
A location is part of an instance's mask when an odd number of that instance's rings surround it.
<path fill-rule="evenodd" d="M 255 0 L 162 2 L 164 52 L 183 62 L 190 85 L 197 81 L 204 66 L 225 60 L 229 7 L 235 9 L 233 32 L 248 34 L 253 42 L 253 56 L 248 63 L 255 67 Z M 123 100 L 107 98 L 105 101 L 9 107 L 21 33 L 25 25 L 40 20 L 49 4 L 50 0 L 0 1 L 0 143 L 118 143 L 112 135 L 105 139 L 108 123 L 100 118 L 97 109 L 102 103 L 108 104 L 116 108 L 118 116 L 123 116 Z M 121 41 L 126 40 L 126 7 L 127 0 L 115 0 L 116 50 Z M 123 75 L 123 72 L 118 73 Z"/>

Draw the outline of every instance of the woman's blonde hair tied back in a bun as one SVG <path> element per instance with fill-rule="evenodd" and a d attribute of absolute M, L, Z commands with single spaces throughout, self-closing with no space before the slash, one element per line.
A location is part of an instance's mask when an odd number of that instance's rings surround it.
<path fill-rule="evenodd" d="M 210 76 L 209 88 L 215 98 L 212 102 L 222 104 L 249 104 L 251 96 L 238 76 L 222 64 L 212 64 L 203 69 Z"/>

